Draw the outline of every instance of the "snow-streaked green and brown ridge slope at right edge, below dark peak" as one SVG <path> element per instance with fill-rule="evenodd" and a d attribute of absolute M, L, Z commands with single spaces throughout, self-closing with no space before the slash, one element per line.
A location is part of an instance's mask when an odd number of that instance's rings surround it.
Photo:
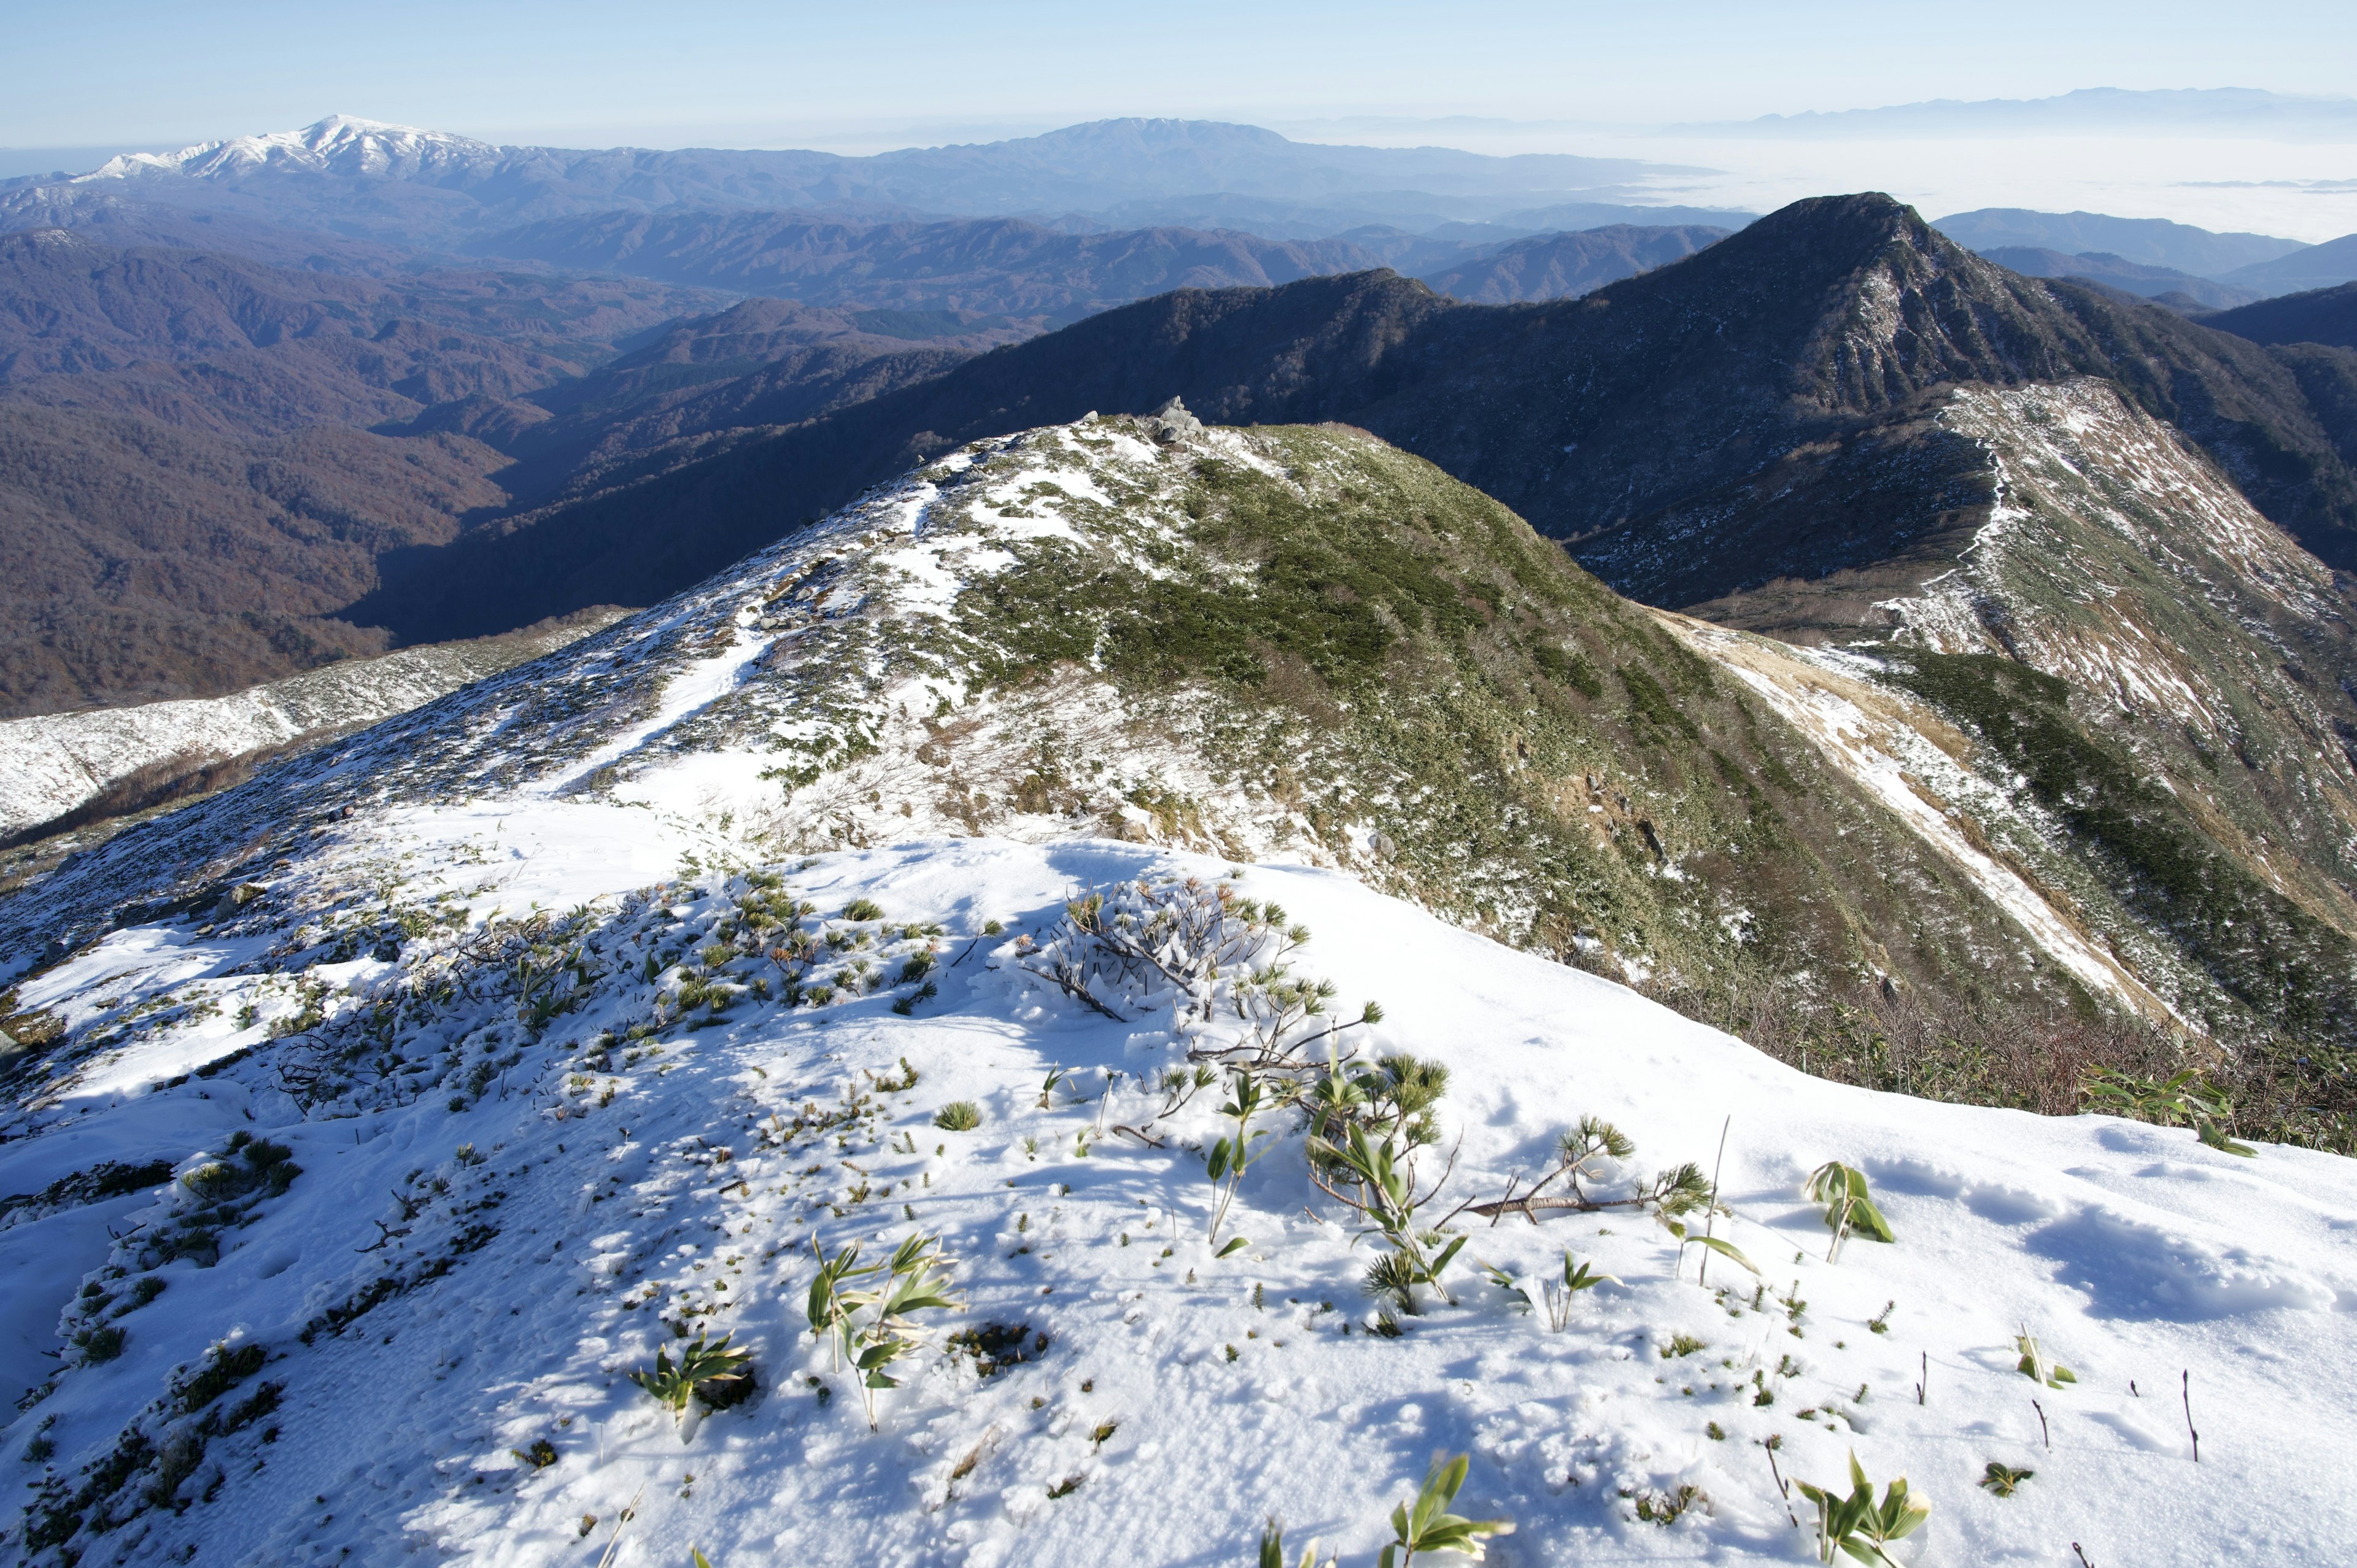
<path fill-rule="evenodd" d="M 1987 854 L 2036 889 L 2077 934 L 2046 943 L 2074 974 L 2088 964 L 2065 948 L 2084 946 L 2220 1037 L 2350 1037 L 2343 582 L 2110 382 L 1959 387 L 1935 424 L 1968 443 L 1980 507 L 1902 559 L 1704 611 L 1836 648 L 1690 637 L 1739 651 L 1737 674 L 1801 729 L 1879 731 L 1879 762 L 1850 743 L 1827 757 L 1968 842 L 1952 861 Z M 2331 1082 L 2291 1099 L 2345 1111 Z"/>

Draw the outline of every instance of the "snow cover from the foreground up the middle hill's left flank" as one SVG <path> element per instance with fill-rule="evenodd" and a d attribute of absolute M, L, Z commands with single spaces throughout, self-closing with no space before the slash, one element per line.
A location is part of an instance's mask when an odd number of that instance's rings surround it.
<path fill-rule="evenodd" d="M 992 689 L 945 611 L 1042 540 L 1169 561 L 1110 488 L 1162 462 L 1115 422 L 945 460 L 0 903 L 0 1559 L 1230 1563 L 1275 1514 L 1365 1563 L 1466 1452 L 1497 1561 L 1813 1561 L 1780 1476 L 1853 1450 L 1933 1504 L 1900 1561 L 2357 1556 L 2357 1167 L 1803 1078 L 1369 889 L 1398 806 L 1320 828 L 1103 684 Z M 1219 910 L 1226 967 L 1122 962 L 1094 894 Z M 1447 1068 L 1426 1224 L 1584 1115 L 1633 1139 L 1584 1177 L 1617 1207 L 1459 1212 L 1386 1306 L 1268 1106 L 1214 1240 L 1216 1068 L 1294 981 L 1332 995 L 1273 1096 L 1332 1087 L 1327 1023 L 1343 1080 Z M 1824 1259 L 1827 1160 L 1895 1243 Z M 1763 1280 L 1626 1203 L 1685 1162 Z M 870 1427 L 806 1302 L 907 1236 L 959 1304 Z M 1565 1250 L 1617 1283 L 1558 1330 Z M 632 1382 L 724 1332 L 750 1398 Z"/>

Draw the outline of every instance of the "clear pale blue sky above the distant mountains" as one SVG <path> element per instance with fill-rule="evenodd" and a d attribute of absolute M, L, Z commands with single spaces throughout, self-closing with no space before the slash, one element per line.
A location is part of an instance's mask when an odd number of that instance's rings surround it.
<path fill-rule="evenodd" d="M 2072 87 L 2357 87 L 2357 7 L 5 0 L 0 146 L 325 113 L 573 146 L 983 139 L 1113 113 L 1659 123 Z"/>

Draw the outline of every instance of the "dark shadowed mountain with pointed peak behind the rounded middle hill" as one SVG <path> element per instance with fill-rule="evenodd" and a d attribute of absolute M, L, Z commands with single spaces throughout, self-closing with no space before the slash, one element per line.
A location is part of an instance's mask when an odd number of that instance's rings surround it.
<path fill-rule="evenodd" d="M 646 599 L 962 441 L 1171 396 L 1219 422 L 1360 424 L 1619 592 L 1699 604 L 1888 559 L 1985 505 L 1973 450 L 1923 424 L 1940 398 L 2081 375 L 2183 429 L 2319 559 L 2357 564 L 2336 365 L 2022 278 L 1888 196 L 1841 196 L 1577 302 L 1457 304 L 1386 271 L 1162 295 L 804 427 L 667 448 L 349 613 L 457 637 Z"/>

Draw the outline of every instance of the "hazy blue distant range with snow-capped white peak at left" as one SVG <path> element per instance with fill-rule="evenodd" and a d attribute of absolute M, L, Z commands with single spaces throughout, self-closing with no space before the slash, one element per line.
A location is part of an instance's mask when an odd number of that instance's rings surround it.
<path fill-rule="evenodd" d="M 85 226 L 111 215 L 151 226 L 141 238 L 186 243 L 189 215 L 207 212 L 408 250 L 453 250 L 589 212 L 681 210 L 1030 215 L 1077 226 L 1169 226 L 1178 212 L 1195 226 L 1230 226 L 1282 215 L 1285 233 L 1336 233 L 1402 217 L 1487 222 L 1563 203 L 1624 203 L 1633 182 L 1664 172 L 1676 170 L 1558 153 L 1315 146 L 1211 120 L 1096 120 L 1016 141 L 841 158 L 493 146 L 335 116 L 299 132 L 120 156 L 68 179 L 0 182 L 0 226 Z M 354 200 L 358 189 L 365 200 Z"/>

